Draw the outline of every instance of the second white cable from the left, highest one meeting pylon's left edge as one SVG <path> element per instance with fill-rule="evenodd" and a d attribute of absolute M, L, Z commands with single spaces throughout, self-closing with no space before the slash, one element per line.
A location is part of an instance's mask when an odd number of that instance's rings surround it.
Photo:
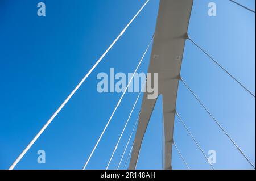
<path fill-rule="evenodd" d="M 133 77 L 134 77 L 135 73 L 137 72 L 139 66 L 141 65 L 141 62 L 143 61 L 143 59 L 144 59 L 144 57 L 145 57 L 145 55 L 146 55 L 148 49 L 150 48 L 150 45 L 151 45 L 153 39 L 154 39 L 154 36 L 152 37 L 150 43 L 148 44 L 147 49 L 146 49 L 146 51 L 144 52 L 144 54 L 143 54 L 143 56 L 142 56 L 142 58 L 141 58 L 141 61 L 139 61 L 139 64 L 138 64 L 137 68 L 135 69 L 135 71 L 134 71 L 134 73 L 133 73 L 133 76 L 130 78 L 130 81 L 129 81 L 128 85 L 126 86 L 125 91 L 123 91 L 123 94 L 122 94 L 121 98 L 119 99 L 119 101 L 118 101 L 118 103 L 117 103 L 117 106 L 115 106 L 115 109 L 114 109 L 114 111 L 112 112 L 112 115 L 110 116 L 110 118 L 109 118 L 107 124 L 105 125 L 105 128 L 104 128 L 104 130 L 102 131 L 100 138 L 98 138 L 98 141 L 96 142 L 96 145 L 94 146 L 94 148 L 93 148 L 93 150 L 92 150 L 92 153 L 90 153 L 89 158 L 87 159 L 87 161 L 86 161 L 84 167 L 82 168 L 82 170 L 85 170 L 86 166 L 88 165 L 88 163 L 89 163 L 89 161 L 90 161 L 90 158 L 92 157 L 94 151 L 96 150 L 96 148 L 97 148 L 97 146 L 98 146 L 98 143 L 101 141 L 101 138 L 102 138 L 103 134 L 105 133 L 106 128 L 108 128 L 109 123 L 110 123 L 110 121 L 112 120 L 112 117 L 114 116 L 115 111 L 117 111 L 117 108 L 118 108 L 119 104 L 121 103 L 121 101 L 122 101 L 122 99 L 123 99 L 123 96 L 125 95 L 125 93 L 126 93 L 128 87 L 130 86 L 131 81 L 133 81 Z"/>

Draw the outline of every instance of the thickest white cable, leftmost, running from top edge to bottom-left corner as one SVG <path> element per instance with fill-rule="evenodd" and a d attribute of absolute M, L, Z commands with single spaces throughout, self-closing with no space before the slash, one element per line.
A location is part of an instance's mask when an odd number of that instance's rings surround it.
<path fill-rule="evenodd" d="M 38 140 L 38 138 L 40 137 L 40 135 L 44 132 L 44 130 L 48 127 L 48 125 L 52 122 L 52 120 L 57 116 L 57 114 L 62 110 L 62 108 L 65 106 L 65 104 L 67 104 L 67 102 L 69 101 L 69 99 L 72 98 L 72 96 L 75 94 L 75 92 L 79 89 L 79 87 L 82 85 L 82 83 L 84 83 L 84 81 L 86 80 L 86 78 L 90 75 L 90 73 L 92 73 L 92 71 L 96 68 L 96 66 L 101 62 L 101 60 L 106 56 L 106 54 L 109 52 L 109 50 L 114 46 L 114 44 L 117 42 L 117 40 L 123 35 L 123 33 L 125 33 L 126 29 L 130 26 L 130 24 L 133 22 L 133 20 L 135 18 L 137 18 L 137 16 L 139 15 L 139 13 L 143 10 L 143 8 L 147 5 L 149 0 L 146 1 L 146 3 L 144 3 L 144 5 L 142 6 L 142 8 L 137 12 L 137 14 L 133 17 L 133 19 L 130 20 L 130 22 L 127 24 L 127 26 L 123 29 L 123 31 L 117 36 L 117 38 L 113 41 L 113 43 L 110 45 L 110 47 L 104 52 L 104 54 L 102 54 L 102 56 L 100 57 L 100 59 L 98 59 L 98 61 L 96 62 L 96 64 L 93 65 L 93 67 L 88 71 L 88 73 L 85 75 L 85 77 L 82 79 L 82 81 L 79 83 L 79 85 L 76 86 L 76 88 L 71 92 L 71 94 L 69 94 L 69 96 L 67 97 L 67 99 L 65 99 L 65 101 L 61 104 L 61 106 L 57 109 L 57 111 L 52 115 L 52 117 L 47 121 L 47 123 L 43 126 L 42 129 L 40 129 L 40 131 L 38 132 L 38 134 L 36 134 L 36 136 L 33 138 L 33 140 L 27 145 L 27 147 L 22 151 L 22 153 L 19 155 L 18 158 L 16 158 L 16 160 L 14 161 L 14 163 L 10 166 L 9 170 L 13 170 L 14 167 L 19 163 L 20 159 L 23 158 L 23 156 L 27 153 L 27 151 L 31 148 L 32 145 L 34 145 L 34 143 L 36 142 L 36 140 Z"/>

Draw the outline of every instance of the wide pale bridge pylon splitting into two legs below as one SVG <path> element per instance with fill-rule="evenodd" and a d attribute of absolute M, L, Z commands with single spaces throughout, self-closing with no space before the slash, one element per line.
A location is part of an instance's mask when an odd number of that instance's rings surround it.
<path fill-rule="evenodd" d="M 177 89 L 185 40 L 188 38 L 187 31 L 192 5 L 193 0 L 160 0 L 154 44 L 148 68 L 148 73 L 152 75 L 158 73 L 159 95 L 163 97 L 163 169 L 167 170 L 172 169 L 172 144 Z M 151 79 L 154 79 L 154 77 L 151 77 Z M 142 140 L 156 100 L 157 98 L 148 99 L 148 93 L 145 92 L 130 159 L 129 169 L 131 170 L 136 168 L 139 150 L 141 149 Z"/>

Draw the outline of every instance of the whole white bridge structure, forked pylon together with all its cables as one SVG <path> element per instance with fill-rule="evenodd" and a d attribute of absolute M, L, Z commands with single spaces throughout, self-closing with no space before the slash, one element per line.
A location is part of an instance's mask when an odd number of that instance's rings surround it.
<path fill-rule="evenodd" d="M 126 30 L 129 28 L 130 24 L 133 23 L 133 21 L 137 18 L 137 16 L 142 12 L 144 7 L 147 5 L 147 3 L 150 0 L 147 0 L 144 5 L 141 7 L 141 9 L 135 14 L 133 19 L 130 20 L 130 22 L 127 24 L 127 26 L 119 33 L 117 38 L 113 41 L 112 44 L 110 44 L 110 47 L 102 54 L 102 56 L 97 60 L 97 62 L 94 64 L 92 69 L 88 71 L 88 73 L 85 75 L 85 77 L 81 80 L 79 85 L 75 87 L 75 89 L 71 92 L 71 94 L 68 96 L 67 99 L 64 100 L 63 104 L 56 110 L 55 113 L 50 117 L 50 119 L 47 121 L 47 123 L 44 125 L 44 127 L 36 134 L 36 136 L 32 139 L 32 141 L 27 145 L 27 147 L 20 153 L 18 158 L 14 161 L 13 165 L 10 166 L 10 170 L 14 169 L 15 166 L 19 163 L 19 161 L 23 158 L 23 156 L 27 153 L 27 151 L 31 148 L 32 145 L 36 142 L 36 140 L 41 136 L 41 134 L 44 132 L 44 130 L 48 127 L 49 124 L 55 119 L 56 115 L 59 114 L 59 112 L 62 110 L 62 108 L 67 104 L 69 99 L 72 98 L 72 96 L 76 93 L 76 91 L 80 88 L 80 86 L 85 82 L 85 80 L 89 77 L 90 73 L 94 69 L 96 69 L 97 65 L 100 64 L 102 60 L 104 60 L 105 55 L 109 52 L 110 49 L 114 46 L 114 44 L 118 41 L 118 39 L 123 36 L 126 32 Z M 240 6 L 241 8 L 245 9 L 245 11 L 250 11 L 251 13 L 255 14 L 255 11 L 241 5 L 240 3 L 237 3 L 236 1 L 232 0 L 225 0 L 230 1 L 232 3 L 235 3 L 237 6 Z M 174 122 L 175 122 L 175 116 L 178 117 L 179 121 L 184 126 L 185 130 L 189 133 L 189 135 L 192 137 L 192 140 L 195 142 L 201 153 L 204 155 L 206 161 L 208 162 L 208 158 L 205 155 L 203 149 L 199 145 L 199 142 L 197 142 L 196 138 L 193 136 L 192 132 L 189 130 L 187 125 L 185 125 L 183 119 L 179 115 L 179 113 L 176 110 L 176 100 L 177 100 L 177 91 L 179 87 L 179 83 L 183 83 L 185 87 L 191 92 L 192 96 L 195 97 L 195 99 L 199 102 L 201 107 L 209 114 L 211 119 L 214 121 L 214 123 L 220 128 L 220 130 L 225 134 L 226 137 L 232 142 L 233 146 L 237 151 L 239 151 L 242 156 L 246 159 L 247 162 L 250 163 L 251 167 L 255 169 L 254 163 L 250 161 L 250 159 L 247 157 L 247 155 L 243 152 L 243 150 L 239 147 L 239 145 L 236 144 L 236 142 L 233 140 L 233 138 L 229 135 L 229 133 L 222 127 L 222 125 L 218 122 L 218 120 L 212 115 L 210 110 L 205 106 L 202 100 L 193 92 L 193 90 L 188 86 L 188 84 L 185 82 L 185 80 L 181 77 L 180 70 L 181 70 L 181 64 L 183 60 L 183 53 L 184 53 L 184 47 L 186 41 L 191 41 L 193 45 L 195 45 L 202 53 L 204 53 L 206 56 L 209 57 L 211 61 L 214 62 L 221 70 L 223 70 L 226 74 L 229 75 L 230 78 L 233 79 L 234 82 L 236 82 L 238 85 L 240 85 L 248 94 L 251 95 L 252 99 L 255 99 L 255 95 L 247 89 L 245 85 L 243 85 L 242 82 L 238 81 L 236 77 L 234 77 L 232 74 L 229 73 L 225 69 L 224 66 L 222 66 L 217 60 L 215 60 L 212 56 L 208 54 L 206 50 L 200 47 L 191 37 L 188 35 L 188 26 L 189 26 L 189 19 L 191 16 L 193 7 L 193 0 L 160 0 L 159 5 L 159 11 L 158 11 L 158 18 L 155 28 L 154 36 L 152 37 L 152 40 L 148 47 L 146 48 L 141 61 L 139 61 L 137 68 L 135 69 L 133 73 L 137 72 L 139 66 L 141 65 L 141 62 L 143 61 L 143 58 L 145 54 L 148 52 L 148 49 L 150 48 L 150 45 L 152 44 L 152 51 L 151 51 L 151 57 L 150 57 L 150 65 L 148 68 L 148 73 L 158 73 L 159 79 L 158 79 L 158 86 L 159 86 L 159 95 L 162 95 L 162 101 L 163 101 L 163 126 L 164 126 L 164 141 L 163 141 L 163 169 L 171 170 L 172 169 L 172 149 L 176 148 L 180 157 L 183 159 L 185 165 L 189 169 L 189 166 L 187 162 L 185 161 L 183 155 L 180 153 L 179 149 L 177 148 L 177 145 L 174 141 Z M 128 83 L 125 91 L 123 92 L 121 98 L 119 99 L 118 103 L 116 104 L 112 115 L 110 116 L 108 122 L 105 125 L 104 130 L 102 131 L 100 137 L 98 138 L 94 148 L 92 149 L 91 154 L 86 159 L 84 167 L 81 169 L 85 170 L 86 166 L 88 165 L 90 158 L 92 157 L 94 151 L 97 149 L 97 146 L 99 142 L 101 141 L 102 136 L 104 135 L 106 129 L 108 128 L 110 122 L 112 121 L 112 117 L 114 116 L 115 112 L 117 111 L 117 108 L 119 104 L 122 102 L 123 96 L 125 95 L 131 80 L 133 79 L 131 77 L 130 82 Z M 151 79 L 151 80 L 150 80 Z M 144 83 L 147 87 L 148 81 L 154 82 L 154 76 L 147 77 L 146 82 Z M 139 93 L 139 96 L 142 92 Z M 141 150 L 141 145 L 143 141 L 144 134 L 147 130 L 148 123 L 150 121 L 150 117 L 152 114 L 152 111 L 154 110 L 156 100 L 158 98 L 150 99 L 148 98 L 150 95 L 150 92 L 146 92 L 143 94 L 143 100 L 141 105 L 141 111 L 138 116 L 138 120 L 136 121 L 133 131 L 130 133 L 129 140 L 127 141 L 125 150 L 123 151 L 121 160 L 119 162 L 119 165 L 117 169 L 119 169 L 124 155 L 126 153 L 127 147 L 129 145 L 129 142 L 131 141 L 132 135 L 135 133 L 135 139 L 133 142 L 133 146 L 129 152 L 129 156 L 126 159 L 125 166 L 128 164 L 129 169 L 133 170 L 136 169 L 136 165 L 138 162 L 139 152 Z M 134 103 L 134 107 L 137 104 L 138 98 L 136 102 Z M 133 113 L 133 109 L 131 110 L 130 116 L 125 124 L 125 127 L 122 130 L 122 133 L 119 137 L 119 140 L 117 144 L 115 145 L 115 148 L 113 149 L 112 155 L 109 159 L 108 166 L 106 166 L 106 169 L 108 169 L 110 162 L 112 161 L 112 158 L 115 154 L 115 151 L 118 148 L 119 142 L 122 138 L 123 132 L 126 129 L 127 124 L 129 123 L 131 114 Z M 128 162 L 130 157 L 130 163 Z M 209 162 L 208 162 L 209 163 Z M 209 163 L 212 169 L 214 169 L 214 166 Z"/>

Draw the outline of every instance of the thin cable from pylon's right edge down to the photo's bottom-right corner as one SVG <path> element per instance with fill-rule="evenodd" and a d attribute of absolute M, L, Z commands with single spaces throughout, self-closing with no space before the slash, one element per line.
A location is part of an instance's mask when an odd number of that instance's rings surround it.
<path fill-rule="evenodd" d="M 187 83 L 185 83 L 185 81 L 183 80 L 183 78 L 181 78 L 181 82 L 184 83 L 184 85 L 187 87 L 187 89 L 191 92 L 191 94 L 193 94 L 193 96 L 195 96 L 196 100 L 201 104 L 201 106 L 205 109 L 205 111 L 208 112 L 208 114 L 210 115 L 210 117 L 212 117 L 212 119 L 215 121 L 215 123 L 218 125 L 218 127 L 220 127 L 220 129 L 226 134 L 226 136 L 229 138 L 229 140 L 234 144 L 234 146 L 236 146 L 236 148 L 238 149 L 238 151 L 240 151 L 240 153 L 243 155 L 243 157 L 245 157 L 245 159 L 250 163 L 250 165 L 255 169 L 253 163 L 251 163 L 251 161 L 249 160 L 249 158 L 246 157 L 245 153 L 243 153 L 243 151 L 239 148 L 239 146 L 236 144 L 236 142 L 234 142 L 234 140 L 229 136 L 229 134 L 225 131 L 225 129 L 220 125 L 220 123 L 218 123 L 218 121 L 215 119 L 215 117 L 213 117 L 212 113 L 210 113 L 210 111 L 208 110 L 207 107 L 204 106 L 203 102 L 201 102 L 201 100 L 196 96 L 196 94 L 190 89 L 190 87 L 187 85 Z"/>

